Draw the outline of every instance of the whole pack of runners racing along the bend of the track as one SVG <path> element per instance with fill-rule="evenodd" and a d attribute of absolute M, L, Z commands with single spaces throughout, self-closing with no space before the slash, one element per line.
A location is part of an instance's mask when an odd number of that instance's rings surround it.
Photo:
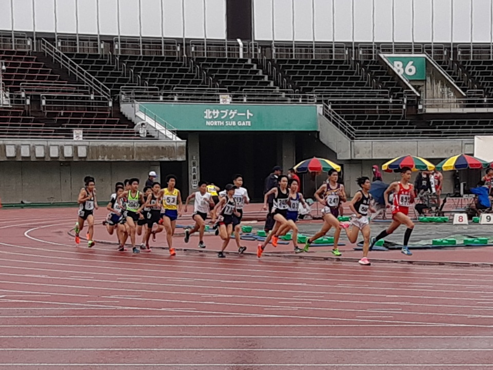
<path fill-rule="evenodd" d="M 315 199 L 322 204 L 323 225 L 319 232 L 308 238 L 303 248 L 298 245 L 298 220 L 300 204 L 305 206 L 305 200 L 298 191 L 299 183 L 297 179 L 281 174 L 277 177 L 278 185 L 269 190 L 264 196 L 264 209 L 267 210 L 267 200 L 273 196 L 271 209 L 272 218 L 275 224 L 268 233 L 265 241 L 259 243 L 257 256 L 261 258 L 269 242 L 273 247 L 277 247 L 281 236 L 292 232 L 292 242 L 294 252 L 300 253 L 308 251 L 310 245 L 318 238 L 334 228 L 334 244 L 332 254 L 341 256 L 339 251 L 339 238 L 342 229 L 345 230 L 351 243 L 356 242 L 361 232 L 363 244 L 363 258 L 359 261 L 362 265 L 369 265 L 368 251 L 374 244 L 386 236 L 390 235 L 400 225 L 407 227 L 404 234 L 402 253 L 412 255 L 407 245 L 414 228 L 414 224 L 408 217 L 410 204 L 414 199 L 413 185 L 409 183 L 411 169 L 401 170 L 401 181 L 394 182 L 385 191 L 385 206 L 391 207 L 392 222 L 390 226 L 379 233 L 376 238 L 370 239 L 369 212 L 374 212 L 372 208 L 372 198 L 369 193 L 370 179 L 361 177 L 357 180 L 360 190 L 354 195 L 349 208 L 352 211 L 350 222 L 340 222 L 338 220 L 340 205 L 346 202 L 344 185 L 338 183 L 339 174 L 336 170 L 330 170 L 328 179 L 315 192 Z M 139 190 L 139 179 L 133 178 L 115 184 L 115 192 L 111 194 L 110 202 L 106 208 L 110 212 L 107 219 L 103 222 L 110 235 L 116 232 L 119 241 L 119 251 L 125 251 L 125 243 L 130 237 L 133 253 L 141 250 L 150 251 L 149 239 L 156 240 L 156 235 L 165 232 L 166 240 L 171 256 L 176 254 L 173 248 L 173 235 L 176 220 L 187 212 L 188 203 L 192 200 L 193 213 L 192 219 L 195 222 L 192 228 L 185 229 L 185 242 L 188 243 L 193 233 L 199 233 L 199 248 L 205 248 L 204 233 L 206 220 L 209 217 L 216 235 L 222 240 L 221 250 L 218 257 L 224 258 L 224 250 L 227 248 L 231 235 L 234 235 L 236 247 L 239 254 L 246 250 L 241 245 L 241 221 L 243 208 L 250 199 L 248 191 L 243 187 L 243 177 L 241 174 L 233 176 L 233 183 L 227 184 L 223 191 L 214 184 L 200 181 L 198 190 L 188 196 L 185 204 L 182 202 L 181 192 L 175 188 L 176 177 L 172 174 L 166 177 L 166 187 L 162 187 L 159 182 L 153 182 L 152 186 L 146 186 L 143 191 Z M 75 242 L 80 243 L 80 232 L 87 222 L 87 243 L 88 247 L 94 245 L 94 209 L 98 208 L 96 200 L 95 180 L 92 177 L 84 179 L 85 186 L 81 189 L 78 196 L 78 219 L 75 223 Z M 393 194 L 393 199 L 391 199 Z M 136 237 L 142 236 L 142 241 L 137 248 Z"/>

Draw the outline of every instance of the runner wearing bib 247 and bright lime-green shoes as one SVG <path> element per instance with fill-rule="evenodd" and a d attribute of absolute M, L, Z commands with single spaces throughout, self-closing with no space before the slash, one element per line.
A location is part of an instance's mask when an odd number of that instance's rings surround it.
<path fill-rule="evenodd" d="M 338 179 L 339 173 L 334 169 L 329 170 L 327 181 L 325 181 L 317 192 L 315 192 L 315 199 L 317 199 L 317 201 L 324 206 L 324 209 L 322 210 L 324 224 L 319 232 L 306 240 L 305 252 L 309 250 L 311 243 L 323 237 L 331 227 L 334 227 L 336 228 L 336 231 L 334 231 L 334 246 L 332 248 L 332 254 L 334 256 L 341 256 L 341 252 L 338 248 L 341 228 L 345 228 L 348 225 L 341 224 L 337 219 L 339 217 L 340 203 L 341 201 L 346 201 L 344 185 L 339 184 L 337 182 Z M 323 198 L 321 197 L 322 194 Z"/>

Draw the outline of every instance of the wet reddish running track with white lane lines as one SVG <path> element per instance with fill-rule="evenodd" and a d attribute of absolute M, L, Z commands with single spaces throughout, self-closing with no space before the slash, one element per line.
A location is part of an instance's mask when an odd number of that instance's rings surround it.
<path fill-rule="evenodd" d="M 2 369 L 493 366 L 490 268 L 133 256 L 74 247 L 74 214 L 0 212 Z"/>

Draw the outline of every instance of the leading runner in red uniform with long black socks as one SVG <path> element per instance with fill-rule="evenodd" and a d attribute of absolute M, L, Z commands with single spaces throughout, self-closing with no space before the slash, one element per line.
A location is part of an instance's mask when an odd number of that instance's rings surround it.
<path fill-rule="evenodd" d="M 390 184 L 390 186 L 385 190 L 385 205 L 387 208 L 390 207 L 388 203 L 388 196 L 393 192 L 393 202 L 392 202 L 392 223 L 390 226 L 383 230 L 377 238 L 371 238 L 370 250 L 373 248 L 375 243 L 390 235 L 392 232 L 396 231 L 396 229 L 401 225 L 406 225 L 407 230 L 404 233 L 404 245 L 402 246 L 401 252 L 404 255 L 412 256 L 411 251 L 407 247 L 409 243 L 409 238 L 411 237 L 412 229 L 415 227 L 415 224 L 411 221 L 411 219 L 407 216 L 409 212 L 409 205 L 414 202 L 413 195 L 413 186 L 409 183 L 411 179 L 411 169 L 409 167 L 404 167 L 401 170 L 401 181 L 396 181 Z"/>

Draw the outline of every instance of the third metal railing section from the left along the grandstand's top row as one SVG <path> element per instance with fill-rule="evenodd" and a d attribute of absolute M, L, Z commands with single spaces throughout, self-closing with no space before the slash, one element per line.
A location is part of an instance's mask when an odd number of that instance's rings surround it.
<path fill-rule="evenodd" d="M 113 51 L 115 55 L 180 56 L 181 46 L 164 38 L 114 37 Z"/>

